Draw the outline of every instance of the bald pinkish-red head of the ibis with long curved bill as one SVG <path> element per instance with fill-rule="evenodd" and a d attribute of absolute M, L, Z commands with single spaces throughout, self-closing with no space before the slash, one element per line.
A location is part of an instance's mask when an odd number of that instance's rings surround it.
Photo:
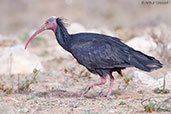
<path fill-rule="evenodd" d="M 34 38 L 36 37 L 36 35 L 38 35 L 39 33 L 41 33 L 42 31 L 44 30 L 52 30 L 54 33 L 56 32 L 56 28 L 57 28 L 57 23 L 56 23 L 56 17 L 55 16 L 52 16 L 50 17 L 44 25 L 42 25 L 40 27 L 39 30 L 37 30 L 31 37 L 30 39 L 28 40 L 27 44 L 25 45 L 25 49 L 27 48 L 29 42 Z"/>

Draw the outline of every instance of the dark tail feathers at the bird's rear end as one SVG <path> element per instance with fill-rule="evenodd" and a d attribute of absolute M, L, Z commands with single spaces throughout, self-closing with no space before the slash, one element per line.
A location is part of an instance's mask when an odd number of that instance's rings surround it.
<path fill-rule="evenodd" d="M 154 57 L 145 55 L 142 52 L 136 50 L 131 50 L 129 62 L 136 68 L 147 72 L 151 72 L 163 66 L 163 64 L 161 64 Z"/>

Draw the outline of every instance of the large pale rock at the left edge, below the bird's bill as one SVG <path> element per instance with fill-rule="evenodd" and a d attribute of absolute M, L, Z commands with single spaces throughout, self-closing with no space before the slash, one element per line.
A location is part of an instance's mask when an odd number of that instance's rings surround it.
<path fill-rule="evenodd" d="M 0 74 L 32 73 L 43 69 L 39 58 L 24 50 L 23 45 L 0 48 Z"/>

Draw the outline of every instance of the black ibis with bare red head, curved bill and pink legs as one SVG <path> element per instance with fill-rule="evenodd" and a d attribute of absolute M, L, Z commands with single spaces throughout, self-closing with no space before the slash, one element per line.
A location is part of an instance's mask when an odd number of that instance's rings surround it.
<path fill-rule="evenodd" d="M 136 67 L 142 71 L 151 72 L 162 68 L 163 64 L 152 56 L 146 55 L 123 43 L 119 38 L 98 33 L 69 34 L 62 18 L 52 16 L 37 30 L 25 45 L 39 33 L 52 30 L 57 42 L 70 52 L 77 62 L 93 74 L 99 75 L 101 81 L 87 85 L 86 94 L 92 87 L 104 85 L 106 77 L 110 77 L 110 85 L 106 97 L 110 98 L 114 85 L 112 72 L 122 75 L 127 67 Z"/>

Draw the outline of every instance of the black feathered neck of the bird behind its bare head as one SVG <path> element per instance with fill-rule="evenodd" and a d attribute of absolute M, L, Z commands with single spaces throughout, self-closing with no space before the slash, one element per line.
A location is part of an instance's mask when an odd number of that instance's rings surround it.
<path fill-rule="evenodd" d="M 57 39 L 58 43 L 65 50 L 68 50 L 67 43 L 68 43 L 68 40 L 70 39 L 70 35 L 62 23 L 58 24 L 55 35 L 56 35 L 56 39 Z"/>

